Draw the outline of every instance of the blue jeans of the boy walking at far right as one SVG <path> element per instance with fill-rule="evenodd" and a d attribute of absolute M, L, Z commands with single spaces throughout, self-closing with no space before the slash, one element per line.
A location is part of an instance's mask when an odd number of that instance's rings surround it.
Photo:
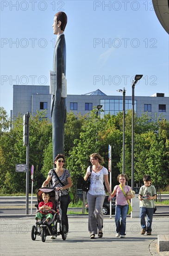
<path fill-rule="evenodd" d="M 140 222 L 142 229 L 146 229 L 145 216 L 147 215 L 147 231 L 151 232 L 154 208 L 140 207 Z"/>

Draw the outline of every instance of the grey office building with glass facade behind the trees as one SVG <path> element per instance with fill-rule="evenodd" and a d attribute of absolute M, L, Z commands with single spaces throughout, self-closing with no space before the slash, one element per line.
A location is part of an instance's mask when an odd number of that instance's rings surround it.
<path fill-rule="evenodd" d="M 51 121 L 50 115 L 51 95 L 49 86 L 35 85 L 13 85 L 13 118 L 18 114 L 25 114 L 29 111 L 34 115 L 38 111 L 46 110 L 46 118 Z M 102 105 L 104 112 L 101 117 L 110 113 L 116 115 L 123 111 L 123 95 L 106 95 L 97 89 L 94 92 L 81 95 L 67 95 L 67 112 L 72 111 L 75 115 L 87 114 L 98 105 Z M 131 96 L 125 96 L 125 110 L 132 108 Z M 138 116 L 148 113 L 152 120 L 159 115 L 169 121 L 169 97 L 163 93 L 156 93 L 152 96 L 135 96 L 134 110 Z M 151 121 L 151 120 L 150 120 Z"/>

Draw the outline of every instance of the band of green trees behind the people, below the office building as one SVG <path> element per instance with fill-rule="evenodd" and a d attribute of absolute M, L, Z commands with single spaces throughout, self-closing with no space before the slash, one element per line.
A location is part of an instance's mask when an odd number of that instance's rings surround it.
<path fill-rule="evenodd" d="M 23 117 L 10 121 L 5 109 L 0 108 L 0 189 L 3 193 L 25 192 L 25 173 L 15 171 L 17 163 L 26 163 L 23 146 Z M 131 111 L 125 113 L 125 173 L 131 180 Z M 29 176 L 34 165 L 34 192 L 41 187 L 52 165 L 52 125 L 44 118 L 45 112 L 30 117 Z M 169 121 L 147 113 L 134 118 L 134 181 L 143 183 L 143 175 L 150 174 L 153 184 L 166 186 L 169 182 Z M 81 188 L 83 176 L 94 152 L 104 157 L 108 168 L 108 145 L 112 146 L 112 187 L 123 166 L 123 113 L 100 118 L 96 108 L 85 116 L 67 114 L 64 131 L 65 167 L 70 170 L 72 191 Z M 129 185 L 131 184 L 129 180 Z"/>

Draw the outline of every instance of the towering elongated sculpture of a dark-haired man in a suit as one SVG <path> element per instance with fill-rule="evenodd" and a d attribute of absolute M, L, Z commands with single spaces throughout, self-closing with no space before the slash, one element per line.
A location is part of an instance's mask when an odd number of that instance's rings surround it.
<path fill-rule="evenodd" d="M 57 154 L 64 151 L 64 124 L 66 122 L 66 95 L 63 94 L 63 77 L 66 76 L 66 42 L 64 29 L 67 24 L 66 13 L 55 14 L 53 34 L 57 35 L 54 55 L 53 71 L 56 72 L 56 89 L 51 95 L 51 117 L 52 117 L 52 145 L 53 160 Z"/>

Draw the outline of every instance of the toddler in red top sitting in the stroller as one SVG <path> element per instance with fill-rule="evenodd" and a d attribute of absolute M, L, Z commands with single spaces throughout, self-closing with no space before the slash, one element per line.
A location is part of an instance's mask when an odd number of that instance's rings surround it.
<path fill-rule="evenodd" d="M 42 224 L 41 220 L 45 217 L 46 220 L 44 221 L 44 224 L 46 224 L 47 222 L 49 222 L 50 219 L 52 219 L 53 215 L 52 212 L 50 211 L 49 213 L 46 214 L 45 211 L 52 209 L 53 208 L 53 204 L 52 202 L 49 202 L 50 196 L 48 193 L 42 193 L 42 199 L 44 200 L 44 202 L 39 202 L 38 204 L 38 209 L 42 210 L 40 212 L 37 212 L 36 214 L 36 220 L 38 221 L 37 224 Z"/>

